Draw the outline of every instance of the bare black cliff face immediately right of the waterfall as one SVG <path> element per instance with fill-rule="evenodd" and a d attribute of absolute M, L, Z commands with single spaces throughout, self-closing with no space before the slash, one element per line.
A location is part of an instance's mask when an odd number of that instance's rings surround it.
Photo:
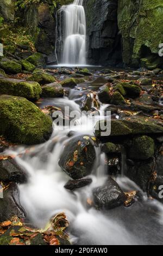
<path fill-rule="evenodd" d="M 117 26 L 117 0 L 84 0 L 87 23 L 87 57 L 91 64 L 121 62 L 121 37 Z"/>

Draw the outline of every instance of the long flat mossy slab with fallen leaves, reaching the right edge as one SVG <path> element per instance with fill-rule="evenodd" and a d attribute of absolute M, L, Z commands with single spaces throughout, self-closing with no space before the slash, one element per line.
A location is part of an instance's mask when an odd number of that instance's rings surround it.
<path fill-rule="evenodd" d="M 108 131 L 106 133 L 106 130 Z M 108 134 L 110 131 L 110 134 Z M 104 133 L 104 134 L 102 134 Z M 163 134 L 162 123 L 154 118 L 133 116 L 123 120 L 101 120 L 96 123 L 95 135 L 106 138 L 108 136 L 126 136 L 139 134 Z"/>

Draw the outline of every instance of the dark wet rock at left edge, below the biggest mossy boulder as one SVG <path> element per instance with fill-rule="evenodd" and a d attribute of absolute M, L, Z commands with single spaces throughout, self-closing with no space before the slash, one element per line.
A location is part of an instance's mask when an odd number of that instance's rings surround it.
<path fill-rule="evenodd" d="M 24 183 L 27 181 L 26 172 L 16 164 L 14 159 L 0 160 L 0 180 L 4 182 Z"/>

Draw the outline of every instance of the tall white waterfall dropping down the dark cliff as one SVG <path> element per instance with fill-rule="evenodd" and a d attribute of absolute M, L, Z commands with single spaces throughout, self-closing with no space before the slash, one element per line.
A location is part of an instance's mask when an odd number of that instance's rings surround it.
<path fill-rule="evenodd" d="M 86 19 L 82 4 L 83 0 L 74 0 L 59 10 L 57 55 L 60 64 L 86 64 Z"/>

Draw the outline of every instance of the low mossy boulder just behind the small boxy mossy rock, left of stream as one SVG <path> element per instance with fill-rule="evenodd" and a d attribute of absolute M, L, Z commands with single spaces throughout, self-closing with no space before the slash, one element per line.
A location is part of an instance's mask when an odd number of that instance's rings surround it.
<path fill-rule="evenodd" d="M 52 82 L 56 82 L 54 76 L 46 74 L 46 73 L 35 73 L 30 76 L 27 81 L 35 81 L 40 85 L 51 84 Z"/>

